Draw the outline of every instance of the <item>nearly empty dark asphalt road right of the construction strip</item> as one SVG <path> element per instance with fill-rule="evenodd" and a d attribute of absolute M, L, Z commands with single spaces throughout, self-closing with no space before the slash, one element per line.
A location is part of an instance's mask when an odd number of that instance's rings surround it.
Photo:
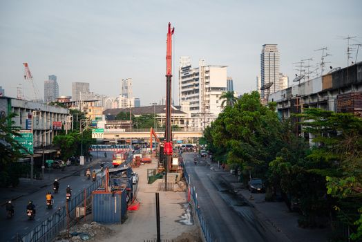
<path fill-rule="evenodd" d="M 184 153 L 191 186 L 198 194 L 198 205 L 211 232 L 213 241 L 280 241 L 254 216 L 254 209 L 228 192 L 217 171 L 200 158 L 193 163 L 194 153 Z"/>

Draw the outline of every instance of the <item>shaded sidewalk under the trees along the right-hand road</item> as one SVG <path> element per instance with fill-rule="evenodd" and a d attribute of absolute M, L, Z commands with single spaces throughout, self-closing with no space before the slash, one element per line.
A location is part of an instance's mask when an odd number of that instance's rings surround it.
<path fill-rule="evenodd" d="M 254 200 L 250 200 L 251 192 L 243 188 L 242 183 L 238 182 L 236 176 L 222 170 L 221 167 L 219 169 L 218 164 L 210 163 L 209 159 L 207 159 L 207 162 L 219 174 L 229 189 L 232 189 L 240 198 L 255 208 L 255 215 L 269 228 L 283 233 L 290 241 L 328 241 L 328 234 L 331 232 L 330 228 L 312 230 L 298 227 L 299 214 L 289 212 L 284 202 L 265 202 L 265 194 L 253 194 Z"/>

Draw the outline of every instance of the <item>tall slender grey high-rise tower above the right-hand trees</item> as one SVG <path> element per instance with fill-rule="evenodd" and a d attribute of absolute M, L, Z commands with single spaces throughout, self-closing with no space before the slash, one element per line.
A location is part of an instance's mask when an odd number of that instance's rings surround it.
<path fill-rule="evenodd" d="M 276 44 L 264 44 L 260 54 L 261 86 L 273 82 L 270 93 L 275 93 L 282 89 L 279 79 L 280 56 Z M 267 90 L 261 91 L 261 97 L 267 97 Z"/>

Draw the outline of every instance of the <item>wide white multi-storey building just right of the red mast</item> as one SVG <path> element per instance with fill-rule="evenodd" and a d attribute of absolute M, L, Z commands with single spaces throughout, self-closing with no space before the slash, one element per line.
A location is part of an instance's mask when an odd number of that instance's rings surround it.
<path fill-rule="evenodd" d="M 191 68 L 190 57 L 181 57 L 178 80 L 179 104 L 191 117 L 189 127 L 207 127 L 222 110 L 220 95 L 227 91 L 227 66 L 207 66 L 199 60 Z"/>

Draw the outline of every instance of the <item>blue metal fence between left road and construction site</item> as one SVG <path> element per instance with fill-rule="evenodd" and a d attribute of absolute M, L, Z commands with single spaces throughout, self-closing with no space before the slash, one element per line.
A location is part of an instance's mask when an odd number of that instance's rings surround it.
<path fill-rule="evenodd" d="M 32 231 L 28 232 L 28 234 L 25 234 L 23 236 L 18 235 L 17 241 L 52 241 L 61 230 L 64 230 L 64 228 L 66 228 L 66 225 L 69 223 L 70 219 L 75 218 L 75 208 L 84 203 L 84 200 L 89 198 L 92 192 L 100 185 L 102 185 L 102 178 L 95 180 L 92 185 L 85 189 L 86 192 L 81 192 L 77 194 L 77 196 L 71 198 L 71 200 L 68 202 L 68 205 L 59 207 L 57 212 L 46 218 L 45 221 L 39 223 L 39 225 L 37 225 Z"/>

